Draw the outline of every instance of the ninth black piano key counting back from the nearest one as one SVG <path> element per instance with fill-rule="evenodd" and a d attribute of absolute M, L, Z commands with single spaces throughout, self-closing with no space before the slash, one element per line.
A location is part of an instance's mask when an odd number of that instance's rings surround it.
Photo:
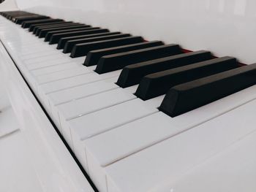
<path fill-rule="evenodd" d="M 49 44 L 55 44 L 59 42 L 59 39 L 61 39 L 62 37 L 73 37 L 73 36 L 78 36 L 78 35 L 86 35 L 86 34 L 97 34 L 100 32 L 108 32 L 108 29 L 106 28 L 88 28 L 86 30 L 83 31 L 71 31 L 71 32 L 66 32 L 66 33 L 59 33 L 59 34 L 53 34 L 52 37 L 50 37 L 49 40 Z M 48 40 L 46 40 L 48 41 Z"/>

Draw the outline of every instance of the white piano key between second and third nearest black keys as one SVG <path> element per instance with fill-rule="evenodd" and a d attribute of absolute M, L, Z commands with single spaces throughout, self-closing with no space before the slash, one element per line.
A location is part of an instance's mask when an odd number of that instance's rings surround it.
<path fill-rule="evenodd" d="M 56 111 L 52 110 L 54 118 L 59 118 L 61 126 L 61 134 L 72 146 L 72 138 L 70 137 L 68 120 L 79 118 L 91 112 L 105 109 L 107 107 L 120 104 L 124 101 L 135 99 L 136 96 L 132 93 L 135 92 L 138 85 L 130 88 L 116 88 L 111 91 L 106 91 L 93 96 L 88 96 L 83 99 L 78 99 L 66 104 L 61 104 L 56 107 Z"/>

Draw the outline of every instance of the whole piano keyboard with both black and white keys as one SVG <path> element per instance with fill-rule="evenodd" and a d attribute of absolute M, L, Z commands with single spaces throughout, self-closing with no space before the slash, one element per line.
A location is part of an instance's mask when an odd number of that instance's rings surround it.
<path fill-rule="evenodd" d="M 29 12 L 1 15 L 21 26 L 1 18 L 1 41 L 99 191 L 186 191 L 197 172 L 218 166 L 208 159 L 255 138 L 256 64 Z"/>

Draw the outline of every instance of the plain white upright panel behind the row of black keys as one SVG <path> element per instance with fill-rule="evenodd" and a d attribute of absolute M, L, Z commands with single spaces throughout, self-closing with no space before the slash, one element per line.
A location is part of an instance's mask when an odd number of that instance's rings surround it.
<path fill-rule="evenodd" d="M 7 0 L 8 1 L 8 0 Z M 17 0 L 21 9 L 256 62 L 255 0 Z M 48 6 L 42 9 L 34 6 Z M 58 7 L 58 8 L 54 8 Z M 66 8 L 65 8 L 66 7 Z"/>

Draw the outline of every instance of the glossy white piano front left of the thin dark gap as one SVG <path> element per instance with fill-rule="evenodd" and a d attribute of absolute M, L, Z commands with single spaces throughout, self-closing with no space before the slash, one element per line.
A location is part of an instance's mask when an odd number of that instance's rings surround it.
<path fill-rule="evenodd" d="M 4 20 L 4 18 L 2 19 Z M 5 25 L 6 23 L 3 23 L 0 27 L 0 36 L 3 37 L 1 40 L 7 40 L 4 37 L 8 37 L 8 34 L 3 32 L 5 30 L 2 31 Z M 10 96 L 20 129 L 17 133 L 15 131 L 13 134 L 9 134 L 14 136 L 13 139 L 9 140 L 4 136 L 4 140 L 0 141 L 2 142 L 1 147 L 4 147 L 3 150 L 1 149 L 3 152 L 1 154 L 6 155 L 1 158 L 1 162 L 7 163 L 7 166 L 1 169 L 3 171 L 1 174 L 4 172 L 7 174 L 1 181 L 8 180 L 6 182 L 8 185 L 11 171 L 20 171 L 22 174 L 22 177 L 19 177 L 20 174 L 17 174 L 17 177 L 14 176 L 15 180 L 21 179 L 16 183 L 17 185 L 12 183 L 11 187 L 7 186 L 8 188 L 3 188 L 1 191 L 93 191 L 2 45 L 0 45 L 0 55 L 4 71 L 4 85 L 7 87 L 7 93 Z M 20 66 L 20 70 L 23 69 Z M 23 135 L 21 138 L 20 133 Z M 10 160 L 12 152 L 15 153 L 15 156 L 12 155 Z M 20 153 L 23 153 L 24 156 L 20 156 Z M 15 160 L 17 160 L 15 158 L 20 158 L 19 163 L 24 163 L 23 166 L 15 164 Z M 15 166 L 8 170 L 7 167 L 12 163 Z M 26 170 L 27 167 L 29 168 Z M 26 180 L 26 178 L 31 178 L 29 182 L 32 184 L 29 185 L 25 181 L 20 183 L 22 179 Z"/>

